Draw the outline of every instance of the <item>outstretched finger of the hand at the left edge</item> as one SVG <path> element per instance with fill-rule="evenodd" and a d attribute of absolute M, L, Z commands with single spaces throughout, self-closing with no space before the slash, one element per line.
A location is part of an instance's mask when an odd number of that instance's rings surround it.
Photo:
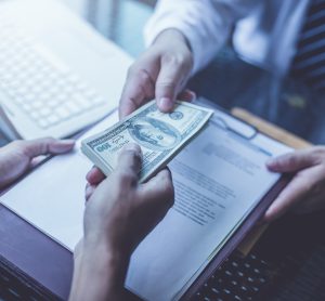
<path fill-rule="evenodd" d="M 21 150 L 29 158 L 40 155 L 67 153 L 68 150 L 72 150 L 74 146 L 74 140 L 56 140 L 53 138 L 23 141 L 17 145 L 17 147 L 21 147 Z"/>

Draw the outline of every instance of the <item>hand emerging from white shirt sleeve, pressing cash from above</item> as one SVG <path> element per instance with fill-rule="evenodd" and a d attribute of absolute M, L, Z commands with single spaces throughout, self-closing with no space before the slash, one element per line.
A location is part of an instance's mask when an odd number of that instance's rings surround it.
<path fill-rule="evenodd" d="M 192 68 L 193 55 L 185 37 L 177 29 L 161 32 L 129 69 L 119 104 L 120 118 L 155 97 L 161 112 L 170 112 Z"/>

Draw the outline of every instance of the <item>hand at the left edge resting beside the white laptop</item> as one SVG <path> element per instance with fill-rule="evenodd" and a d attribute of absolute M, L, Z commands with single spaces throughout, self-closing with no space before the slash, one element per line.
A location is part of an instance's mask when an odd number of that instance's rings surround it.
<path fill-rule="evenodd" d="M 32 159 L 40 155 L 56 155 L 70 150 L 75 145 L 72 140 L 51 138 L 14 141 L 0 148 L 0 188 L 11 184 L 30 167 Z"/>

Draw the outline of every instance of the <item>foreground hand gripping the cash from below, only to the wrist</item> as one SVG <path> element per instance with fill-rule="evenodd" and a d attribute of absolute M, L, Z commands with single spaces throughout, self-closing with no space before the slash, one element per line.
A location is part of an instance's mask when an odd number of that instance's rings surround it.
<path fill-rule="evenodd" d="M 129 256 L 165 217 L 173 204 L 170 171 L 165 169 L 139 184 L 141 165 L 140 146 L 129 144 L 108 179 L 98 168 L 89 172 L 84 241 L 96 240 Z"/>

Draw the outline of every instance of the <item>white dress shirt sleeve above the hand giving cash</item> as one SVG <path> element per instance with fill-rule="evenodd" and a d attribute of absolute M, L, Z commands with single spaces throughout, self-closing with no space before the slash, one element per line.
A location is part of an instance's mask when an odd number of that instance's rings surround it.
<path fill-rule="evenodd" d="M 229 38 L 237 19 L 245 16 L 257 0 L 159 0 L 148 21 L 146 45 L 168 28 L 180 30 L 188 40 L 196 73 L 205 67 Z"/>

